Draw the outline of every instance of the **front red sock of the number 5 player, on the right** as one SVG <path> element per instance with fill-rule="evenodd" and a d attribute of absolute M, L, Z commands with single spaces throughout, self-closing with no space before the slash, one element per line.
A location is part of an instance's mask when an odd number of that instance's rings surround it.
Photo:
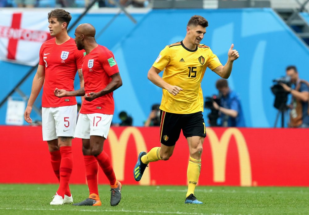
<path fill-rule="evenodd" d="M 57 194 L 59 196 L 62 196 L 62 198 L 64 198 L 66 188 L 69 186 L 69 180 L 73 167 L 72 146 L 60 147 L 60 153 L 61 153 L 61 164 L 59 168 L 60 184 L 57 190 Z"/>

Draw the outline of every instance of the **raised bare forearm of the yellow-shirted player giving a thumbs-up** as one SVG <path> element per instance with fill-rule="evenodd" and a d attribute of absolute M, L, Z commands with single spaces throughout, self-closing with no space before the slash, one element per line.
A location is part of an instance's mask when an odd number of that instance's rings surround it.
<path fill-rule="evenodd" d="M 227 62 L 224 66 L 220 65 L 217 68 L 215 68 L 213 71 L 217 73 L 221 78 L 229 78 L 232 72 L 233 68 L 233 62 L 239 58 L 239 53 L 234 48 L 234 44 L 231 45 L 231 48 L 229 49 L 227 53 Z"/>

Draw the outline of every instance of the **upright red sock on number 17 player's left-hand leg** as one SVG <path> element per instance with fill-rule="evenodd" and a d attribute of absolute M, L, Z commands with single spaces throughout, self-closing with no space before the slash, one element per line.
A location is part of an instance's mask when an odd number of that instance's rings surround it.
<path fill-rule="evenodd" d="M 98 191 L 98 161 L 93 155 L 84 155 L 86 178 L 89 188 L 89 195 L 95 193 L 99 195 Z"/>

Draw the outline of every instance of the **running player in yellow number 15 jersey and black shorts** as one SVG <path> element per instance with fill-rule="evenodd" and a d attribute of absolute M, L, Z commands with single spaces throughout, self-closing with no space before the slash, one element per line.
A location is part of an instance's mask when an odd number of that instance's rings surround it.
<path fill-rule="evenodd" d="M 234 44 L 228 50 L 228 60 L 223 66 L 211 49 L 200 44 L 206 33 L 208 21 L 194 15 L 188 22 L 187 34 L 181 42 L 166 46 L 148 72 L 148 79 L 163 89 L 161 101 L 160 147 L 138 156 L 133 174 L 141 180 L 149 162 L 168 160 L 173 154 L 182 129 L 189 145 L 188 192 L 185 203 L 202 204 L 194 196 L 201 171 L 201 154 L 206 137 L 203 119 L 201 81 L 209 67 L 222 78 L 231 75 L 233 62 L 239 57 Z M 163 71 L 163 77 L 159 73 Z"/>

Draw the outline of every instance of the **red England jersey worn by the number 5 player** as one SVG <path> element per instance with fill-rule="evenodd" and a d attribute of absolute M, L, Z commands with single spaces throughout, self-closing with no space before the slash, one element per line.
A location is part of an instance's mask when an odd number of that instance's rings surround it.
<path fill-rule="evenodd" d="M 40 48 L 39 65 L 45 66 L 42 107 L 61 107 L 76 104 L 75 97 L 58 98 L 54 90 L 74 91 L 74 78 L 77 69 L 82 68 L 83 50 L 79 51 L 73 38 L 61 45 L 56 39 L 44 42 Z"/>

